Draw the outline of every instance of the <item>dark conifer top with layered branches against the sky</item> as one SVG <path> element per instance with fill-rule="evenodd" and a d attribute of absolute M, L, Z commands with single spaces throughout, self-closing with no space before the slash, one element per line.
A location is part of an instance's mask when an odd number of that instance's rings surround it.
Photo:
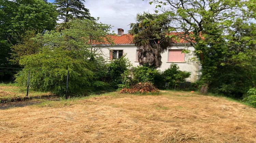
<path fill-rule="evenodd" d="M 70 19 L 94 19 L 85 8 L 85 0 L 55 0 L 59 12 L 59 20 L 68 22 Z"/>

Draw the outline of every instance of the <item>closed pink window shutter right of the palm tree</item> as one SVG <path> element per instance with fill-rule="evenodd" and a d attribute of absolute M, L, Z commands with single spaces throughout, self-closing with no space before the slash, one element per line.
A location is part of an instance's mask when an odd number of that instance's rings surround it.
<path fill-rule="evenodd" d="M 169 50 L 168 62 L 185 62 L 185 53 L 182 50 Z"/>

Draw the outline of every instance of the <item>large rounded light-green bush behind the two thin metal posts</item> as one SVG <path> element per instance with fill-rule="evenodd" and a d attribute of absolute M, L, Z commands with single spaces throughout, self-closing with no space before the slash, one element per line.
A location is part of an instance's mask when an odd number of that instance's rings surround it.
<path fill-rule="evenodd" d="M 44 48 L 38 54 L 27 55 L 19 62 L 24 69 L 16 75 L 16 82 L 27 84 L 30 71 L 30 86 L 39 91 L 51 91 L 63 94 L 66 90 L 67 71 L 69 70 L 69 93 L 82 92 L 90 85 L 93 72 L 89 70 L 88 61 L 74 59 L 68 50 L 61 48 Z"/>

